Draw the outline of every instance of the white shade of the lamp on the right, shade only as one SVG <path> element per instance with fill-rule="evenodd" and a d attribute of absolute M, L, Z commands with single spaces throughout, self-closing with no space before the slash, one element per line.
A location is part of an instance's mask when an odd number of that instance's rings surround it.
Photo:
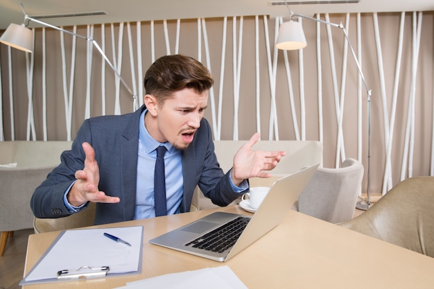
<path fill-rule="evenodd" d="M 281 24 L 276 42 L 277 49 L 296 50 L 302 49 L 306 45 L 302 24 L 297 21 L 288 21 Z"/>

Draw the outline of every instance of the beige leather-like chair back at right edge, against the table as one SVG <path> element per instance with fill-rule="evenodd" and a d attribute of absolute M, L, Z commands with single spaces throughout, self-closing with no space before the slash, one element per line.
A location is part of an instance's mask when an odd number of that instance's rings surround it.
<path fill-rule="evenodd" d="M 342 227 L 434 257 L 434 177 L 411 177 L 394 186 Z"/>

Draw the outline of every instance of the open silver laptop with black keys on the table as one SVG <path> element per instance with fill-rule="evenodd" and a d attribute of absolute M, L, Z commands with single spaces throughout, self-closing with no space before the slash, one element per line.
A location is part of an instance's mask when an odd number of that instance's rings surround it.
<path fill-rule="evenodd" d="M 253 216 L 215 212 L 153 238 L 149 242 L 215 261 L 227 261 L 279 225 L 302 193 L 318 165 L 308 166 L 278 179 L 272 184 L 268 195 Z M 219 231 L 219 228 L 224 227 L 223 231 L 226 234 L 227 227 L 234 222 L 237 223 L 236 227 L 241 227 L 242 231 L 231 233 L 236 241 L 227 247 L 225 241 L 228 238 L 221 235 L 223 233 Z M 219 231 L 218 237 L 210 237 L 216 234 L 216 231 Z M 209 245 L 207 239 L 211 239 L 209 242 L 214 244 Z"/>

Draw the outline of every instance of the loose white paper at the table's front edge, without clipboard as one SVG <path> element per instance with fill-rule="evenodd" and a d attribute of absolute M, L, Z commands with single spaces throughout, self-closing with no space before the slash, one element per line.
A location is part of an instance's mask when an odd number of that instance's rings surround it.
<path fill-rule="evenodd" d="M 227 266 L 205 268 L 194 271 L 186 271 L 173 274 L 165 274 L 158 277 L 127 283 L 126 286 L 116 289 L 248 289 L 238 279 L 236 274 Z"/>

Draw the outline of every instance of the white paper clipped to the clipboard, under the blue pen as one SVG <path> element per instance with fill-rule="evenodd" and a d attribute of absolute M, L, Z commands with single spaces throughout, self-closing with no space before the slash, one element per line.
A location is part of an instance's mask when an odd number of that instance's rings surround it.
<path fill-rule="evenodd" d="M 135 272 L 139 270 L 142 230 L 142 227 L 118 227 L 64 231 L 24 280 L 57 279 L 58 271 L 83 266 L 109 266 L 109 274 Z M 126 240 L 131 246 L 111 240 L 104 233 Z"/>

